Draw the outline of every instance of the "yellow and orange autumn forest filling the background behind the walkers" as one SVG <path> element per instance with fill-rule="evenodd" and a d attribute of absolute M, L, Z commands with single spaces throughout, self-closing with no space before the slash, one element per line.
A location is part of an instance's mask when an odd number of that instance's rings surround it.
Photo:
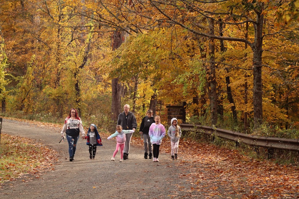
<path fill-rule="evenodd" d="M 186 102 L 187 122 L 299 138 L 299 0 L 4 0 L 1 115 L 114 130 Z"/>

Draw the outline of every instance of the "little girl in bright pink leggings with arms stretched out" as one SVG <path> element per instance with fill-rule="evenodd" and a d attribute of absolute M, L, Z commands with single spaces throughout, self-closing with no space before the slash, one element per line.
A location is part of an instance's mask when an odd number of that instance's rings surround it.
<path fill-rule="evenodd" d="M 112 135 L 110 135 L 107 139 L 110 140 L 111 138 L 116 137 L 116 149 L 113 153 L 113 156 L 111 158 L 112 161 L 115 161 L 115 155 L 120 149 L 120 162 L 123 161 L 123 148 L 125 147 L 126 142 L 126 133 L 133 133 L 134 130 L 123 130 L 123 127 L 121 125 L 116 126 L 116 131 Z"/>

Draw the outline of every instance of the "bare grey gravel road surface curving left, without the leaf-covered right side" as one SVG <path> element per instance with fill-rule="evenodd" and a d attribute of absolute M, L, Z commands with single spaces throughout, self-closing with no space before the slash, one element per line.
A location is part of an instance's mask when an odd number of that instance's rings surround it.
<path fill-rule="evenodd" d="M 189 183 L 179 178 L 178 161 L 160 154 L 159 163 L 143 158 L 143 150 L 130 148 L 129 160 L 111 161 L 115 140 L 102 137 L 95 160 L 80 140 L 75 161 L 68 160 L 68 144 L 60 143 L 60 129 L 44 128 L 13 120 L 3 120 L 2 133 L 35 139 L 59 154 L 54 170 L 40 178 L 18 179 L 4 183 L 0 198 L 182 198 L 191 197 Z M 119 154 L 116 160 L 119 160 Z M 31 179 L 31 180 L 30 180 Z M 178 192 L 178 186 L 185 189 Z"/>

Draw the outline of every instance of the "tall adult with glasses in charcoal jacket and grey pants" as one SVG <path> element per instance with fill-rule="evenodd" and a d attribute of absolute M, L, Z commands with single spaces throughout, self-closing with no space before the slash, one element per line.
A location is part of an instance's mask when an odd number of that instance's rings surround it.
<path fill-rule="evenodd" d="M 117 124 L 121 125 L 124 130 L 136 130 L 137 128 L 137 121 L 135 118 L 134 113 L 129 111 L 130 106 L 129 104 L 125 104 L 123 106 L 123 112 L 118 115 Z M 130 142 L 133 133 L 126 134 L 126 142 L 125 148 L 123 149 L 123 159 L 129 159 L 129 150 L 130 150 Z"/>

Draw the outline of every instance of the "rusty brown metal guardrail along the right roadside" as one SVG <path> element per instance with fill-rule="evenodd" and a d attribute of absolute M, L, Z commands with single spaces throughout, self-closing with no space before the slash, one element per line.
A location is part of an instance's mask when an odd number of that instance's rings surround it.
<path fill-rule="evenodd" d="M 281 149 L 299 152 L 299 139 L 263 137 L 194 124 L 181 124 L 180 126 L 181 129 L 185 131 L 202 132 L 208 135 L 213 133 L 219 138 L 235 141 L 236 143 L 241 142 L 249 146 L 260 146 L 268 149 Z"/>

